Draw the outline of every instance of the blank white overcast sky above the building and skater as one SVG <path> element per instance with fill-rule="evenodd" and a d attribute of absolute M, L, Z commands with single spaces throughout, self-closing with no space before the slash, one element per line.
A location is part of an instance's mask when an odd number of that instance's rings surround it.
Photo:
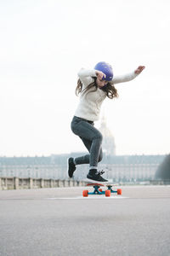
<path fill-rule="evenodd" d="M 116 154 L 168 154 L 169 11 L 169 0 L 2 0 L 0 155 L 85 150 L 70 128 L 74 91 L 98 61 L 115 75 L 146 67 L 104 102 Z"/>

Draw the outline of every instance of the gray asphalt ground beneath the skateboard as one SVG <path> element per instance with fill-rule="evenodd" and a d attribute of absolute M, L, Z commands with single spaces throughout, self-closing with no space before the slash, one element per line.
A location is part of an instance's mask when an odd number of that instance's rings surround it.
<path fill-rule="evenodd" d="M 170 186 L 0 191 L 0 255 L 170 255 Z"/>

